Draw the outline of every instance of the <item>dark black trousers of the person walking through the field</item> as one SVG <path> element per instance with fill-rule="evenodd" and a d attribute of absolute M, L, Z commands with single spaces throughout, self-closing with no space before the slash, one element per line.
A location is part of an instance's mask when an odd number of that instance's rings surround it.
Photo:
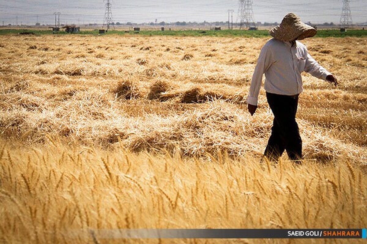
<path fill-rule="evenodd" d="M 295 120 L 298 94 L 294 96 L 266 93 L 270 109 L 274 114 L 272 134 L 264 155 L 270 161 L 278 161 L 284 150 L 291 160 L 302 158 L 302 139 Z"/>

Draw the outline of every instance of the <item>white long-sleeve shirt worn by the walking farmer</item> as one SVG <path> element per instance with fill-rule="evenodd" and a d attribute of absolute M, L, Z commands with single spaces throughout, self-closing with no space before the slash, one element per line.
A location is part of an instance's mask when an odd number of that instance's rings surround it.
<path fill-rule="evenodd" d="M 301 73 L 326 80 L 331 75 L 325 68 L 309 55 L 301 42 L 279 41 L 275 38 L 262 47 L 257 65 L 252 75 L 247 103 L 257 105 L 262 75 L 265 73 L 264 89 L 269 93 L 280 95 L 296 95 L 303 91 Z"/>

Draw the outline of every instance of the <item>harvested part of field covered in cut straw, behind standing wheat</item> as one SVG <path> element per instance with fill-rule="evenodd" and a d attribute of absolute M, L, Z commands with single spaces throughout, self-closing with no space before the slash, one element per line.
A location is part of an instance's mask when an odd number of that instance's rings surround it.
<path fill-rule="evenodd" d="M 50 134 L 110 147 L 118 135 L 130 149 L 178 147 L 185 155 L 206 150 L 259 155 L 265 148 L 272 114 L 264 90 L 253 117 L 244 105 L 266 38 L 150 37 L 149 42 L 142 37 L 103 37 L 103 42 L 84 36 L 18 38 L 2 40 L 7 47 L 0 59 L 4 138 L 32 144 L 44 142 Z M 366 161 L 366 61 L 363 49 L 348 48 L 366 40 L 303 42 L 341 81 L 334 88 L 302 74 L 298 121 L 305 156 L 320 162 L 342 155 Z M 37 48 L 28 49 L 32 45 Z M 215 59 L 208 57 L 211 53 Z M 182 61 L 185 55 L 189 58 Z M 213 111 L 209 115 L 208 109 Z M 224 116 L 228 120 L 220 119 L 221 111 L 230 111 Z M 239 116 L 230 117 L 233 114 Z M 203 122 L 188 127 L 186 117 Z"/>

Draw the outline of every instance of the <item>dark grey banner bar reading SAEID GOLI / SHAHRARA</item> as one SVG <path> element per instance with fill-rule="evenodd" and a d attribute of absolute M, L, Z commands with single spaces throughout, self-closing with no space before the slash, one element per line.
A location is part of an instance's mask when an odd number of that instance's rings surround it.
<path fill-rule="evenodd" d="M 360 239 L 362 229 L 89 229 L 72 238 L 97 239 Z"/>

